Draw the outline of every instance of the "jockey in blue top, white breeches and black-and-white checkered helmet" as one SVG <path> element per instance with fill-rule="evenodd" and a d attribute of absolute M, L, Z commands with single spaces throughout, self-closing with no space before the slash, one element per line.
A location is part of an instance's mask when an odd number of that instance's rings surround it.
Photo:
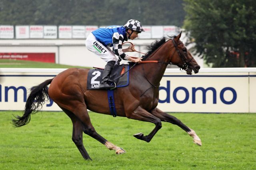
<path fill-rule="evenodd" d="M 86 48 L 95 53 L 98 57 L 107 62 L 102 73 L 102 81 L 100 88 L 113 89 L 116 88 L 114 81 L 109 80 L 114 64 L 120 59 L 140 63 L 141 59 L 133 59 L 125 54 L 125 52 L 136 51 L 134 45 L 130 45 L 127 49 L 122 49 L 122 43 L 128 39 L 135 39 L 138 33 L 144 32 L 142 25 L 137 20 L 129 20 L 124 26 L 108 26 L 92 31 L 86 39 Z M 109 47 L 113 47 L 113 52 Z"/>

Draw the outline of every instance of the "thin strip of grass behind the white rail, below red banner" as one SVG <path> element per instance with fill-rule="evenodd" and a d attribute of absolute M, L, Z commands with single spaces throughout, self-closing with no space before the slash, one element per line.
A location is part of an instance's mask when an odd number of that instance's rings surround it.
<path fill-rule="evenodd" d="M 0 59 L 0 68 L 88 68 L 82 66 L 69 66 L 55 63 L 42 63 L 35 61 Z"/>

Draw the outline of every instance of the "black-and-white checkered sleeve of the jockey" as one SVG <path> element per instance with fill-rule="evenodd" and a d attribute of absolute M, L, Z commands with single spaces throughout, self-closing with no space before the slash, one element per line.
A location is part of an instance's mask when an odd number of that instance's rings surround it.
<path fill-rule="evenodd" d="M 114 33 L 112 39 L 113 39 L 113 49 L 114 49 L 115 55 L 117 55 L 121 59 L 128 60 L 129 56 L 122 51 L 122 43 L 124 42 L 124 36 L 116 32 Z"/>

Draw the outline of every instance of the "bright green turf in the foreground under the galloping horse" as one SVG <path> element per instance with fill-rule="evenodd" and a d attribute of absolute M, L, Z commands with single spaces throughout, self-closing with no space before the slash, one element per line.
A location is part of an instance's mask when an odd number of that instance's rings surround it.
<path fill-rule="evenodd" d="M 176 125 L 163 122 L 150 143 L 132 135 L 150 133 L 154 124 L 90 112 L 96 131 L 126 150 L 116 155 L 84 134 L 86 161 L 72 142 L 72 123 L 62 112 L 40 112 L 20 128 L 0 111 L 0 169 L 208 170 L 256 169 L 256 114 L 172 113 L 194 129 L 202 147 Z"/>

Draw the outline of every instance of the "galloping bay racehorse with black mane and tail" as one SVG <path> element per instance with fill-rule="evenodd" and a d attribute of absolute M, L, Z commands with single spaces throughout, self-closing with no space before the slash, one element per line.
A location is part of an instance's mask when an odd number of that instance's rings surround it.
<path fill-rule="evenodd" d="M 201 140 L 195 131 L 184 125 L 176 117 L 164 113 L 156 106 L 159 98 L 159 85 L 168 64 L 178 65 L 187 74 L 198 73 L 200 66 L 196 63 L 186 46 L 177 36 L 156 40 L 148 46 L 148 53 L 142 59 L 145 63 L 136 64 L 129 72 L 130 83 L 126 87 L 114 90 L 115 106 L 118 116 L 155 124 L 148 134 L 138 133 L 137 139 L 150 142 L 162 127 L 161 121 L 178 125 L 193 137 L 194 143 L 201 146 Z M 150 62 L 157 61 L 157 62 Z M 87 109 L 96 113 L 110 115 L 106 90 L 87 90 L 89 69 L 69 68 L 50 80 L 31 89 L 22 117 L 16 116 L 12 123 L 21 127 L 30 122 L 30 114 L 38 112 L 48 96 L 70 117 L 73 123 L 72 141 L 86 160 L 91 160 L 83 145 L 83 132 L 98 140 L 116 154 L 125 150 L 110 143 L 94 129 Z M 49 88 L 48 85 L 50 84 Z"/>

